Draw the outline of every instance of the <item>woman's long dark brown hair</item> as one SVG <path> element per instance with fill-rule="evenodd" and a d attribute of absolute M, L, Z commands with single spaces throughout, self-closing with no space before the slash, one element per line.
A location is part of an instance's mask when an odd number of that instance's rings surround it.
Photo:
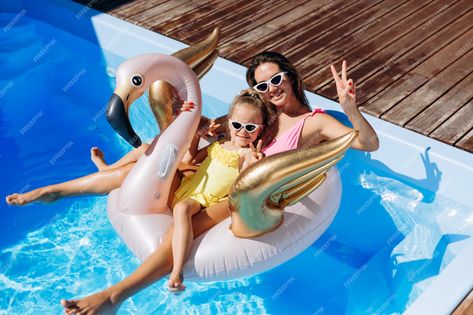
<path fill-rule="evenodd" d="M 262 53 L 259 53 L 256 55 L 250 63 L 250 66 L 248 67 L 248 70 L 246 71 L 246 82 L 248 82 L 249 86 L 255 86 L 256 85 L 256 79 L 255 79 L 255 71 L 256 68 L 258 68 L 259 65 L 263 63 L 274 63 L 279 66 L 279 69 L 281 71 L 286 72 L 287 77 L 289 78 L 289 82 L 291 83 L 292 90 L 294 91 L 294 94 L 296 95 L 297 99 L 301 104 L 306 107 L 309 111 L 312 109 L 309 106 L 309 101 L 307 100 L 307 97 L 304 94 L 304 83 L 302 81 L 301 76 L 297 72 L 296 68 L 292 65 L 292 63 L 281 55 L 280 53 L 273 52 L 273 51 L 263 51 Z"/>

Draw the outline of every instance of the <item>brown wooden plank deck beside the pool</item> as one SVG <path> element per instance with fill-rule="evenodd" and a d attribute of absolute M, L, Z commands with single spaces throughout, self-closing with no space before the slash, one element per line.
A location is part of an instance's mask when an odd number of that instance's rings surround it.
<path fill-rule="evenodd" d="M 218 25 L 222 57 L 281 52 L 331 99 L 328 65 L 346 59 L 363 112 L 473 152 L 471 0 L 76 1 L 187 44 Z"/>

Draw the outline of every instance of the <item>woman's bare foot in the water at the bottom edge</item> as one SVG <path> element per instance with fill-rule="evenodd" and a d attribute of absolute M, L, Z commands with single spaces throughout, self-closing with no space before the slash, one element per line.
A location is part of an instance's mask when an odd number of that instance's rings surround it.
<path fill-rule="evenodd" d="M 61 300 L 66 314 L 115 314 L 120 307 L 118 295 L 102 291 L 79 300 Z"/>

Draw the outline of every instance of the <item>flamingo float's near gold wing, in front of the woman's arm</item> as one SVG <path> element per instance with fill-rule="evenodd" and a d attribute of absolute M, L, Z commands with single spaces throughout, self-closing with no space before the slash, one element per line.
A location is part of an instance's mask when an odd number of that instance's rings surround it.
<path fill-rule="evenodd" d="M 275 154 L 244 170 L 228 196 L 233 234 L 247 238 L 277 229 L 284 208 L 317 189 L 357 135 L 353 130 L 316 146 Z"/>

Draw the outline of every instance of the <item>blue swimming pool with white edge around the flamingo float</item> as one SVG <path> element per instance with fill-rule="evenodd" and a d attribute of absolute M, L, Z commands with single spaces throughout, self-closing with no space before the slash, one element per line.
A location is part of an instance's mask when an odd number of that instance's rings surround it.
<path fill-rule="evenodd" d="M 182 43 L 88 7 L 50 0 L 0 4 L 0 128 L 3 195 L 94 170 L 89 149 L 112 161 L 129 146 L 109 127 L 114 70 L 141 53 Z M 204 114 L 227 111 L 246 87 L 245 69 L 219 59 L 201 81 Z M 344 119 L 337 104 L 311 104 Z M 132 107 L 144 140 L 158 130 L 145 97 Z M 187 283 L 165 280 L 120 313 L 445 314 L 473 285 L 471 154 L 369 117 L 373 154 L 339 163 L 340 211 L 328 231 L 291 261 L 263 274 Z M 0 314 L 60 313 L 60 298 L 115 283 L 138 265 L 105 214 L 106 197 L 71 198 L 0 212 Z M 468 265 L 469 264 L 469 265 Z"/>

